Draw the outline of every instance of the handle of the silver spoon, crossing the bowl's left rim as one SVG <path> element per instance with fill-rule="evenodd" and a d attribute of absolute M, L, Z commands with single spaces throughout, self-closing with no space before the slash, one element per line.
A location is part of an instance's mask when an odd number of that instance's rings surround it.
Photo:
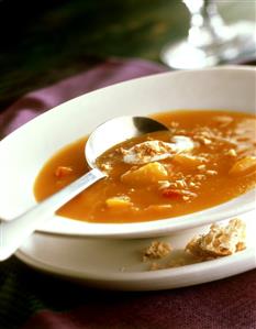
<path fill-rule="evenodd" d="M 12 255 L 58 208 L 103 177 L 105 177 L 104 173 L 93 168 L 25 213 L 10 221 L 0 221 L 0 261 Z"/>

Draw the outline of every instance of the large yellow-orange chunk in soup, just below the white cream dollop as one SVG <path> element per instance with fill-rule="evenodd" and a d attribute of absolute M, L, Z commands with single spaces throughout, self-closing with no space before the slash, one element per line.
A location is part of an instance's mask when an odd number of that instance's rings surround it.
<path fill-rule="evenodd" d="M 129 171 L 121 176 L 121 180 L 130 185 L 149 185 L 166 179 L 168 172 L 158 162 L 148 163 L 138 169 Z"/>

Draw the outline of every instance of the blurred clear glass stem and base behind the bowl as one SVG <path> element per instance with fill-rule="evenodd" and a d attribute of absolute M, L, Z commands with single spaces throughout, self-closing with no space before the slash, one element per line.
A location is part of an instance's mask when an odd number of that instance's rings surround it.
<path fill-rule="evenodd" d="M 256 56 L 256 26 L 242 21 L 226 25 L 214 0 L 182 0 L 190 12 L 188 36 L 169 44 L 162 61 L 176 69 L 234 63 Z"/>

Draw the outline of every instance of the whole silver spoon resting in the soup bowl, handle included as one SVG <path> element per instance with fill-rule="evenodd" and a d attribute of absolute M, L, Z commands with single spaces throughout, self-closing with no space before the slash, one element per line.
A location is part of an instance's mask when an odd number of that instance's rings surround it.
<path fill-rule="evenodd" d="M 46 198 L 25 213 L 13 220 L 0 222 L 0 261 L 12 255 L 25 239 L 51 218 L 58 208 L 93 183 L 107 176 L 96 164 L 96 160 L 104 151 L 127 139 L 160 130 L 167 130 L 167 128 L 146 117 L 119 117 L 99 125 L 90 134 L 85 147 L 86 160 L 91 167 L 89 173 Z"/>

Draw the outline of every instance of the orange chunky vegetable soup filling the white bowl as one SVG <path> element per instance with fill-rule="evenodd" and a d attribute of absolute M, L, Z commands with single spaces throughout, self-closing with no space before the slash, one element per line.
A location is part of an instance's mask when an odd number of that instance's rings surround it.
<path fill-rule="evenodd" d="M 213 207 L 255 187 L 255 116 L 182 110 L 154 118 L 169 131 L 108 150 L 97 160 L 108 177 L 57 213 L 91 222 L 156 220 Z M 85 143 L 67 145 L 44 165 L 34 186 L 38 201 L 89 169 Z"/>

